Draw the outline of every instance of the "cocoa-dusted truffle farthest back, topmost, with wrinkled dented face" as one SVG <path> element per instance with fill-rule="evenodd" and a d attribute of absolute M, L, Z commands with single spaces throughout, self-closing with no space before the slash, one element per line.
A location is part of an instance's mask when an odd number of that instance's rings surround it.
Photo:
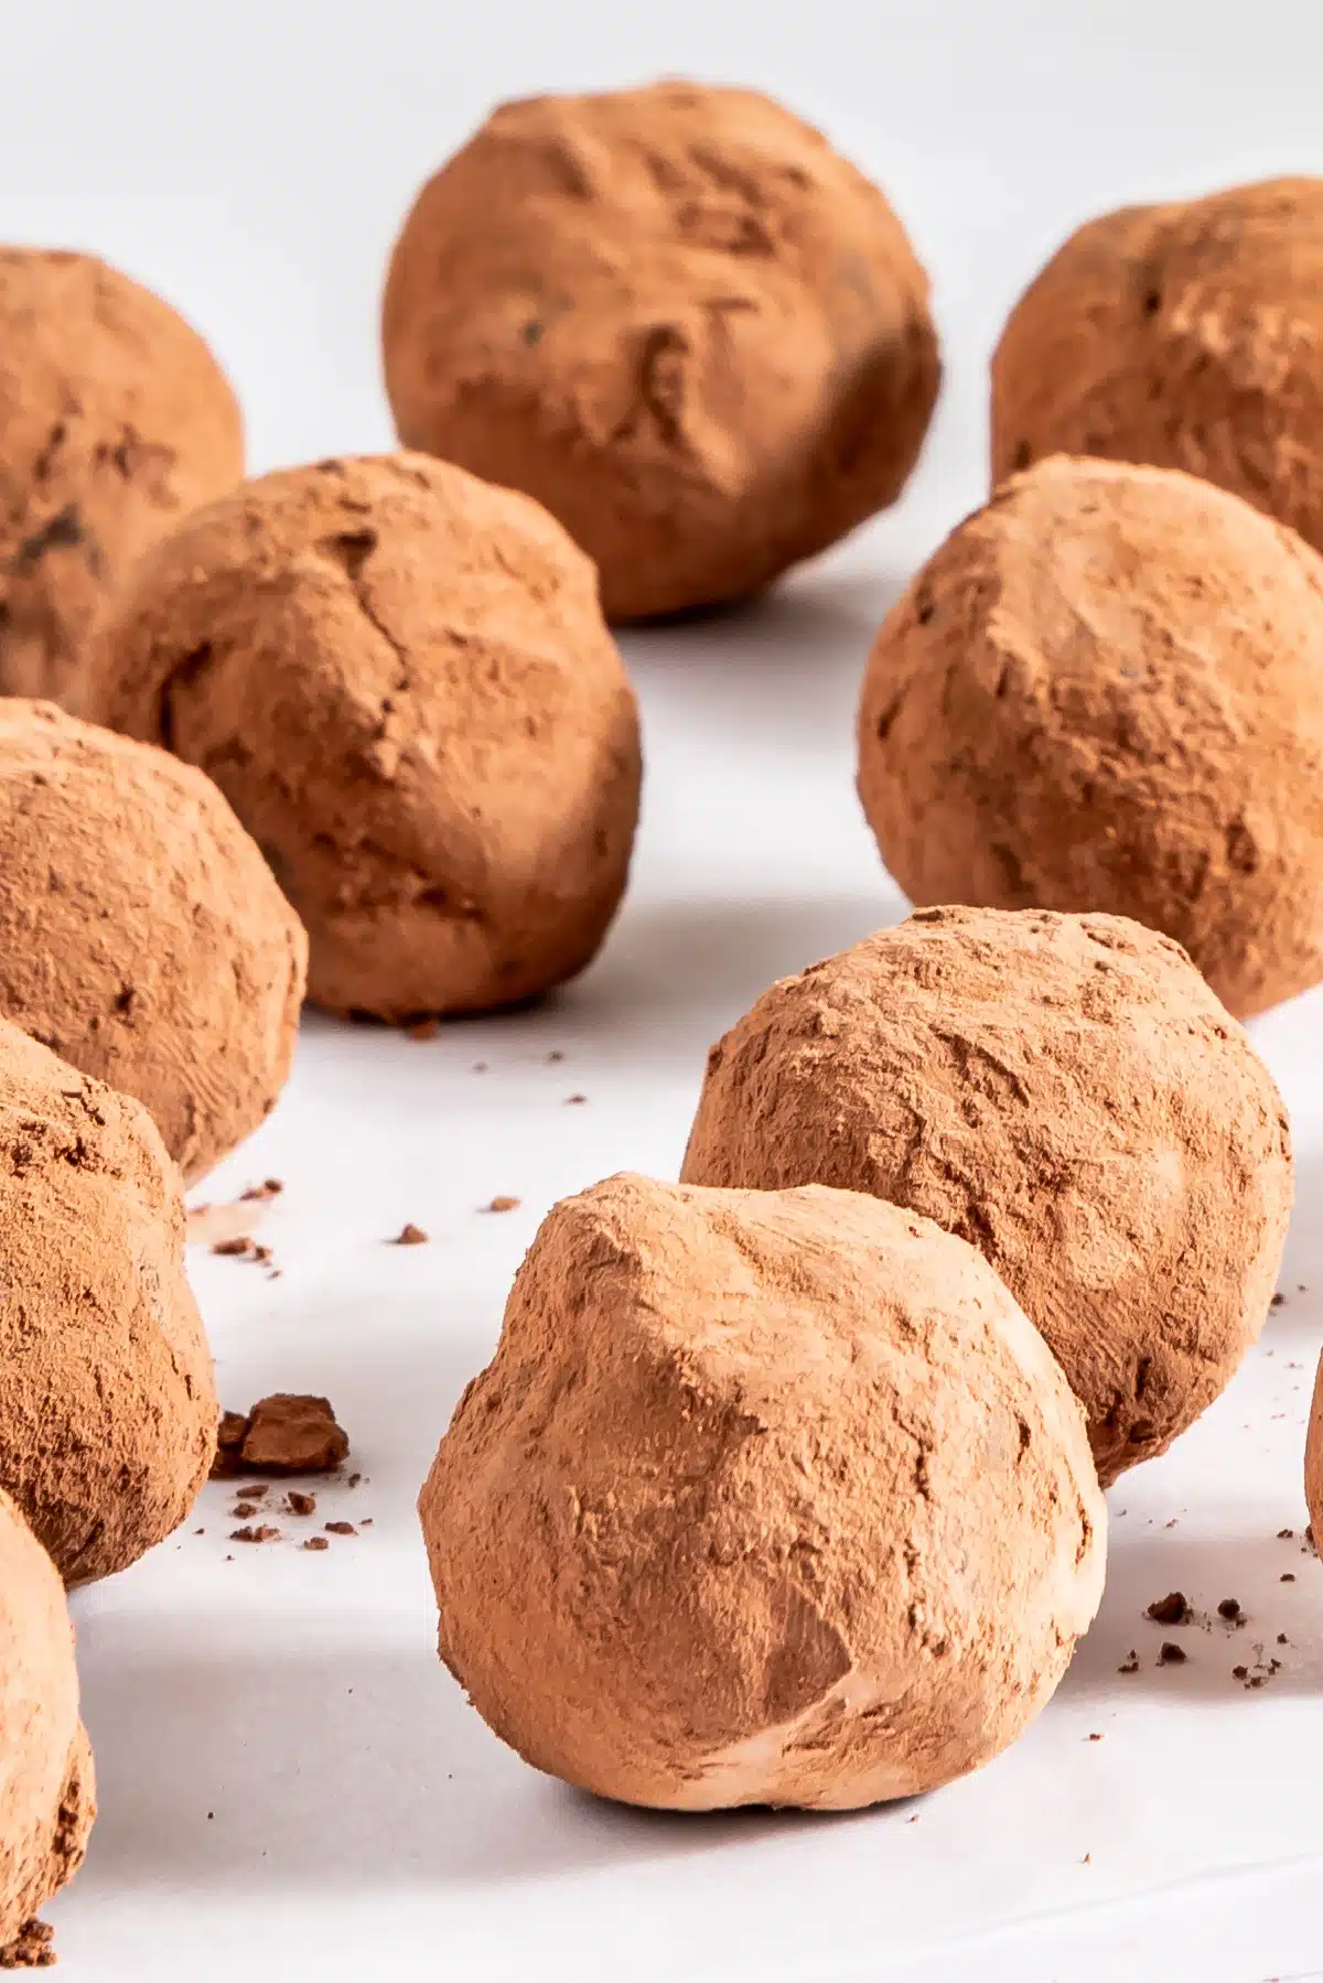
<path fill-rule="evenodd" d="M 750 89 L 506 103 L 395 248 L 401 440 L 526 490 L 609 619 L 740 599 L 901 494 L 940 361 L 901 222 Z"/>

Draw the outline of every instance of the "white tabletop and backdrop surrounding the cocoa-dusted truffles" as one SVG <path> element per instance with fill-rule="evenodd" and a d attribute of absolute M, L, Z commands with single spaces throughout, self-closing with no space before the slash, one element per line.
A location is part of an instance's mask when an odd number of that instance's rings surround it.
<path fill-rule="evenodd" d="M 288 1186 L 262 1227 L 280 1281 L 194 1255 L 224 1400 L 329 1392 L 369 1479 L 319 1519 L 373 1525 L 325 1555 L 244 1551 L 212 1487 L 182 1537 L 77 1598 L 103 1814 L 52 1910 L 65 1973 L 1323 1975 L 1323 1573 L 1275 1535 L 1303 1525 L 1323 1333 L 1323 993 L 1256 1029 L 1301 1156 L 1287 1305 L 1214 1412 L 1113 1491 L 1101 1620 L 982 1777 L 843 1820 L 613 1810 L 502 1751 L 432 1658 L 413 1497 L 538 1218 L 609 1170 L 672 1174 L 708 1041 L 770 978 L 902 910 L 853 801 L 853 702 L 897 585 L 984 494 L 1006 309 L 1095 210 L 1323 171 L 1323 10 L 0 8 L 2 232 L 95 248 L 184 307 L 238 385 L 254 468 L 389 444 L 383 262 L 494 99 L 676 71 L 783 95 L 893 194 L 946 345 L 930 446 L 891 518 L 772 601 L 625 642 L 649 787 L 593 972 L 555 1007 L 428 1045 L 309 1021 L 278 1114 L 208 1186 Z M 496 1192 L 520 1210 L 482 1216 Z M 385 1247 L 405 1220 L 432 1243 Z M 1156 1668 L 1141 1614 L 1172 1586 L 1204 1612 L 1236 1596 L 1250 1624 L 1194 1630 L 1190 1662 Z M 1230 1668 L 1256 1646 L 1283 1666 L 1248 1691 Z M 1141 1672 L 1121 1676 L 1131 1648 Z"/>

